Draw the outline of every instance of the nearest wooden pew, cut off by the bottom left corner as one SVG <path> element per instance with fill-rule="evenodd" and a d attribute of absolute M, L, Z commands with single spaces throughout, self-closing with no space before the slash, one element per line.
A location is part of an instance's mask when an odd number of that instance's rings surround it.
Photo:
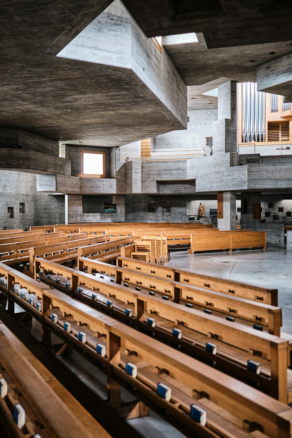
<path fill-rule="evenodd" d="M 68 434 L 72 438 L 110 438 L 103 427 L 1 322 L 0 363 L 1 377 L 8 384 L 7 396 L 0 397 L 0 411 L 7 430 L 13 436 L 24 438 L 28 434 L 40 433 L 54 438 L 67 438 Z M 25 408 L 23 428 L 19 428 L 14 419 L 13 409 L 18 403 Z"/>

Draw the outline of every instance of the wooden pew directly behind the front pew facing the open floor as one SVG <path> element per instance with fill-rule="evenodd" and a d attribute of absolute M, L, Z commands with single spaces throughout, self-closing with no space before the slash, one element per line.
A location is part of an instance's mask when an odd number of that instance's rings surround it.
<path fill-rule="evenodd" d="M 246 300 L 235 296 L 227 296 L 209 289 L 202 289 L 198 286 L 188 286 L 186 283 L 179 283 L 174 280 L 175 272 L 165 269 L 156 269 L 156 265 L 151 264 L 148 273 L 141 272 L 140 262 L 136 263 L 136 269 L 131 270 L 133 260 L 130 264 L 126 260 L 118 259 L 123 268 L 114 267 L 88 258 L 78 259 L 78 269 L 83 270 L 87 267 L 88 273 L 100 272 L 114 275 L 117 283 L 126 282 L 133 287 L 139 286 L 146 290 L 152 290 L 162 295 L 169 295 L 174 302 L 190 303 L 202 310 L 215 312 L 226 318 L 232 316 L 238 322 L 249 322 L 248 325 L 266 327 L 268 332 L 280 336 L 282 325 L 281 309 L 264 303 Z M 127 265 L 127 267 L 125 266 Z M 140 266 L 139 266 L 140 265 Z M 149 265 L 149 264 L 148 264 Z M 153 266 L 153 268 L 152 268 Z M 137 268 L 139 268 L 137 270 Z M 143 266 L 142 266 L 143 268 Z M 158 274 L 157 274 L 158 273 Z"/>

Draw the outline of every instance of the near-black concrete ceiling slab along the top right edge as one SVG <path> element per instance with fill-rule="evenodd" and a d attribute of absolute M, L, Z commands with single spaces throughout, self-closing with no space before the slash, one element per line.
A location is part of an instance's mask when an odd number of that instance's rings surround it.
<path fill-rule="evenodd" d="M 203 32 L 209 48 L 292 39 L 290 0 L 123 0 L 146 36 Z"/>

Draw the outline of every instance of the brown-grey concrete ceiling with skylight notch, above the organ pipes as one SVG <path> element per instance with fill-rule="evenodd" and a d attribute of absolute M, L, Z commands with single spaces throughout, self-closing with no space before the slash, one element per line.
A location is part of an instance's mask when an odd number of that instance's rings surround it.
<path fill-rule="evenodd" d="M 292 39 L 286 42 L 207 49 L 202 35 L 198 37 L 199 41 L 194 43 L 163 44 L 187 86 L 206 85 L 222 77 L 238 82 L 255 82 L 257 66 L 292 51 Z"/>

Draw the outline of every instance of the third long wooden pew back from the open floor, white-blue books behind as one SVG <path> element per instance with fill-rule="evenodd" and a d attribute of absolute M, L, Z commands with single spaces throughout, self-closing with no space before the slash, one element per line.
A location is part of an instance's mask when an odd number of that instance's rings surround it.
<path fill-rule="evenodd" d="M 49 274 L 52 276 L 49 282 L 56 284 L 56 279 L 53 278 L 55 272 L 58 279 L 57 287 L 62 287 L 65 293 L 71 294 L 71 297 L 83 300 L 89 306 L 97 307 L 106 313 L 110 311 L 116 318 L 132 323 L 136 329 L 152 331 L 167 342 L 174 342 L 172 330 L 177 327 L 181 328 L 182 339 L 175 342 L 203 360 L 212 357 L 208 353 L 206 356 L 204 351 L 206 339 L 208 337 L 216 339 L 214 341 L 218 347 L 216 362 L 221 369 L 239 378 L 252 378 L 252 374 L 246 371 L 245 364 L 246 360 L 250 359 L 250 355 L 254 355 L 254 360 L 259 361 L 263 367 L 261 375 L 254 377 L 254 380 L 258 381 L 261 388 L 266 389 L 272 396 L 287 402 L 288 341 L 266 332 L 258 332 L 251 327 L 230 323 L 218 316 L 204 314 L 200 310 L 186 308 L 157 296 L 149 296 L 120 284 L 110 283 L 103 278 L 95 278 L 90 274 L 59 266 L 44 259 L 35 260 L 35 272 L 42 272 L 41 279 L 46 279 Z M 38 276 L 37 274 L 36 277 Z M 176 286 L 179 286 L 179 283 L 176 283 Z M 82 290 L 82 293 L 78 290 Z M 113 307 L 110 308 L 108 307 L 109 298 L 113 302 Z M 243 305 L 250 304 L 247 300 L 244 301 Z M 126 308 L 130 309 L 133 314 L 127 317 Z M 278 319 L 279 322 L 281 309 L 267 306 L 266 310 L 267 308 L 274 312 L 274 321 Z M 149 328 L 147 316 L 155 318 L 157 328 Z M 161 325 L 162 322 L 168 323 L 168 326 Z M 229 345 L 227 346 L 226 343 Z M 290 401 L 292 400 L 292 376 L 289 374 L 288 377 L 288 400 Z"/>

